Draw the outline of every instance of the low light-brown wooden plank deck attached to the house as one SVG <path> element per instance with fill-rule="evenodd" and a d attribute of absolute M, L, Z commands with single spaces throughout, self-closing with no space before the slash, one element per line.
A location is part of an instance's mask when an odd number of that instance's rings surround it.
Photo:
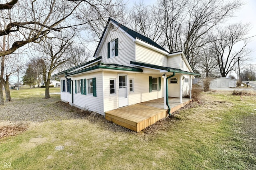
<path fill-rule="evenodd" d="M 179 98 L 169 98 L 170 113 L 184 107 L 190 101 L 188 98 L 182 98 L 183 103 L 180 103 Z M 105 118 L 107 120 L 136 132 L 145 129 L 167 116 L 168 111 L 164 109 L 164 98 L 105 112 Z"/>

